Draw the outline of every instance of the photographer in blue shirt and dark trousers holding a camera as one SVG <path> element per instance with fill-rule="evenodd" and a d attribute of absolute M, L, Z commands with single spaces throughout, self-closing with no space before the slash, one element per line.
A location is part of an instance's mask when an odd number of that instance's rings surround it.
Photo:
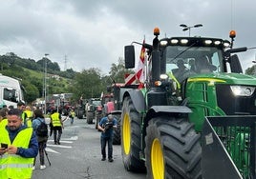
<path fill-rule="evenodd" d="M 108 143 L 108 159 L 113 162 L 113 135 L 114 129 L 117 128 L 117 119 L 112 114 L 103 117 L 98 123 L 97 129 L 101 130 L 100 144 L 101 144 L 101 161 L 106 160 L 106 145 Z"/>

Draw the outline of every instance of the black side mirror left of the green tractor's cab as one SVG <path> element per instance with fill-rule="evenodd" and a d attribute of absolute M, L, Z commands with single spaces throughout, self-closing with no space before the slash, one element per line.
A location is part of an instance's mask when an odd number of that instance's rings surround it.
<path fill-rule="evenodd" d="M 124 47 L 125 69 L 135 68 L 135 47 L 133 45 Z"/>

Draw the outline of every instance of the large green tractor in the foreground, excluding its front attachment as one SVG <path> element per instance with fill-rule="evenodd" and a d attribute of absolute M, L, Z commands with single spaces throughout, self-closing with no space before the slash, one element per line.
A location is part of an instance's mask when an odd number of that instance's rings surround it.
<path fill-rule="evenodd" d="M 148 178 L 207 178 L 202 167 L 205 118 L 256 115 L 256 79 L 243 74 L 238 56 L 232 55 L 247 49 L 232 49 L 234 33 L 231 43 L 206 37 L 159 39 L 159 34 L 155 29 L 153 45 L 140 44 L 148 55 L 144 87 L 123 94 L 123 164 L 127 170 L 147 170 Z M 125 68 L 132 69 L 134 46 L 124 50 Z M 229 140 L 231 156 L 245 150 L 235 144 L 248 143 L 246 128 L 243 134 L 236 128 L 222 131 L 223 136 L 236 133 L 237 140 Z"/>

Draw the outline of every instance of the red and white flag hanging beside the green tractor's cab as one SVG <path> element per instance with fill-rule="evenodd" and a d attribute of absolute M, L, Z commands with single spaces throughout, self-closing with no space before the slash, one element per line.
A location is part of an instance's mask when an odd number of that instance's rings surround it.
<path fill-rule="evenodd" d="M 143 40 L 143 44 L 145 43 L 145 39 Z M 138 69 L 136 72 L 136 79 L 140 83 L 143 83 L 145 80 L 145 48 L 142 46 L 140 50 L 140 55 L 139 55 L 139 64 L 138 64 Z"/>

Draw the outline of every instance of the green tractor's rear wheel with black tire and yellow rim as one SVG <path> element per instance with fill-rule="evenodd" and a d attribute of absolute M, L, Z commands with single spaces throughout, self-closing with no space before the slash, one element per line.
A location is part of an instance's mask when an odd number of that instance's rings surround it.
<path fill-rule="evenodd" d="M 121 114 L 121 153 L 124 168 L 132 171 L 145 170 L 145 164 L 139 159 L 140 148 L 139 112 L 130 97 L 123 101 Z"/>

